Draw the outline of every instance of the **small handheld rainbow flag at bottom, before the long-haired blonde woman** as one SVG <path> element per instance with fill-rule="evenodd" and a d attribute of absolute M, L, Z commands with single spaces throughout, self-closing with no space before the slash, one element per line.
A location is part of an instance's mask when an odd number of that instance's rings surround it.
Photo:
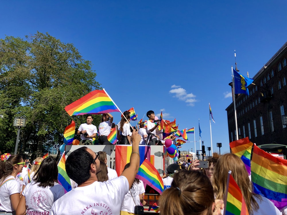
<path fill-rule="evenodd" d="M 228 194 L 226 200 L 226 215 L 249 215 L 242 192 L 229 171 Z"/>

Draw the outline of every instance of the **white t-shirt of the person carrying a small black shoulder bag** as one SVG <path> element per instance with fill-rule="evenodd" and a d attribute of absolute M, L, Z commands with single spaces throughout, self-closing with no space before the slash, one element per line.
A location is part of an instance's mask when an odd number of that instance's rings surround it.
<path fill-rule="evenodd" d="M 136 182 L 133 183 L 131 189 L 129 189 L 127 194 L 125 194 L 125 199 L 123 200 L 121 210 L 129 213 L 134 213 L 135 204 L 137 204 L 137 206 L 140 205 L 139 194 L 142 194 L 144 192 L 144 183 L 141 180 L 139 180 L 139 184 Z M 131 197 L 131 193 L 133 195 L 133 198 Z M 135 200 L 135 202 L 133 202 L 133 199 Z"/>

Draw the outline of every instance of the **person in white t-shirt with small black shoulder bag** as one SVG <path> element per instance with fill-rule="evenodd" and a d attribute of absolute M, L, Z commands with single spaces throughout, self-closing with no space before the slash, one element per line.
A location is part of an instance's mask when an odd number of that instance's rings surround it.
<path fill-rule="evenodd" d="M 129 165 L 130 163 L 127 163 L 124 170 L 129 168 Z M 135 206 L 140 206 L 140 204 L 144 202 L 144 192 L 144 183 L 135 178 L 133 185 L 127 194 L 125 194 L 125 198 L 121 206 L 121 215 L 134 214 Z"/>

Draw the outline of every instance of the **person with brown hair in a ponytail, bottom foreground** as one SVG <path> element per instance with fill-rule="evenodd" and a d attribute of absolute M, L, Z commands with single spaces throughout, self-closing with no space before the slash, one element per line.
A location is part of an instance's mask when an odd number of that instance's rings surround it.
<path fill-rule="evenodd" d="M 220 214 L 222 204 L 222 200 L 215 204 L 212 184 L 206 175 L 186 170 L 174 174 L 171 187 L 162 192 L 159 200 L 160 213 L 169 215 Z"/>

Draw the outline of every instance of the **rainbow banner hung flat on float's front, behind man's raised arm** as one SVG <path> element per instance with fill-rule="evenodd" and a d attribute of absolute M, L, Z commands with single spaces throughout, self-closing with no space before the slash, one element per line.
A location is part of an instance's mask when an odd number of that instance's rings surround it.
<path fill-rule="evenodd" d="M 115 164 L 118 176 L 123 172 L 123 169 L 131 158 L 131 145 L 116 145 Z M 139 146 L 139 165 L 147 158 L 150 161 L 150 146 L 140 145 Z"/>

